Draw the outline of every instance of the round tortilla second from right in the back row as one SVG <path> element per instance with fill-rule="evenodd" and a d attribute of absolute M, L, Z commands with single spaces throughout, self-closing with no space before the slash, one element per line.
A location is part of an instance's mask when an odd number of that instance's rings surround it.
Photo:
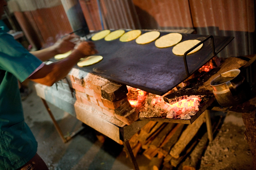
<path fill-rule="evenodd" d="M 169 33 L 157 39 L 155 45 L 158 48 L 171 47 L 179 43 L 181 39 L 182 35 L 180 33 Z"/>

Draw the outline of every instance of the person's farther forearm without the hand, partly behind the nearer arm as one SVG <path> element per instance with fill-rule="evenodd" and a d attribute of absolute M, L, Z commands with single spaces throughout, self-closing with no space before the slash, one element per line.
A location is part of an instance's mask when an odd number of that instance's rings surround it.
<path fill-rule="evenodd" d="M 46 61 L 58 54 L 55 46 L 51 46 L 38 51 L 31 51 L 30 53 L 35 55 L 41 61 Z"/>

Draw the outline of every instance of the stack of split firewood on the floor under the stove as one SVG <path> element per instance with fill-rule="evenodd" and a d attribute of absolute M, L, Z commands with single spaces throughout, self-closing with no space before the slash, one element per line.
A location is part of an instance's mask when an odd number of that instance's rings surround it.
<path fill-rule="evenodd" d="M 183 170 L 196 169 L 208 141 L 206 128 L 201 128 L 204 122 L 204 114 L 189 125 L 151 121 L 129 143 L 135 157 L 142 150 L 145 157 L 154 161 L 154 170 L 179 165 Z"/>

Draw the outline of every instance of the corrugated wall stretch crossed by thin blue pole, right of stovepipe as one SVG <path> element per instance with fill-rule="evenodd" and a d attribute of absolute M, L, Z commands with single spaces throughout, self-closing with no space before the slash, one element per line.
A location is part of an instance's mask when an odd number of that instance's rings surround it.
<path fill-rule="evenodd" d="M 79 0 L 90 30 L 101 30 L 97 0 Z M 140 29 L 131 0 L 100 0 L 104 29 Z"/>

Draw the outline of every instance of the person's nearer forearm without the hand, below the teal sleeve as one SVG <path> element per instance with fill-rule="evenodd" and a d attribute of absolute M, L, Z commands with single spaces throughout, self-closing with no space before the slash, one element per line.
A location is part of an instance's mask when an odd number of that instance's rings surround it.
<path fill-rule="evenodd" d="M 29 79 L 36 83 L 52 86 L 55 82 L 65 78 L 72 67 L 82 57 L 84 55 L 80 51 L 74 50 L 67 58 L 49 65 L 44 65 L 44 67 L 31 75 Z"/>

